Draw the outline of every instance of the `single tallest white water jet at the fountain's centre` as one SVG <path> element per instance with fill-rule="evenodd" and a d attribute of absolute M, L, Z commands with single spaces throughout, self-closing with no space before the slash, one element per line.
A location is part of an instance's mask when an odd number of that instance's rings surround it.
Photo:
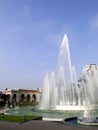
<path fill-rule="evenodd" d="M 62 69 L 60 72 L 62 73 L 62 76 L 60 76 L 60 78 L 57 79 L 58 86 L 63 91 L 60 96 L 64 98 L 64 100 L 66 100 L 66 103 L 65 103 L 66 105 L 73 104 L 74 89 L 73 89 L 72 66 L 71 66 L 71 59 L 70 59 L 68 37 L 66 34 L 64 35 L 64 38 L 60 46 L 60 53 L 59 53 L 59 58 L 58 58 L 58 71 L 60 71 L 60 69 Z M 63 97 L 63 95 L 65 96 Z"/>

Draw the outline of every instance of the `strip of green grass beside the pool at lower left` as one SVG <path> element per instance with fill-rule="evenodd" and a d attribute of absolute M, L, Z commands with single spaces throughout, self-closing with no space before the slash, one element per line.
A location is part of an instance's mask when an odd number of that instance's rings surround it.
<path fill-rule="evenodd" d="M 0 120 L 9 121 L 9 122 L 25 122 L 40 118 L 38 116 L 13 116 L 13 115 L 4 115 L 0 114 Z"/>

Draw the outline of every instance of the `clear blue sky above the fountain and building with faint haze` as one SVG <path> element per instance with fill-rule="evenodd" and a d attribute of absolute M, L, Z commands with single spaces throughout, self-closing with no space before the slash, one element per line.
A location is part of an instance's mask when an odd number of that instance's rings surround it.
<path fill-rule="evenodd" d="M 98 65 L 98 0 L 0 0 L 0 89 L 40 86 L 65 33 L 78 76 Z"/>

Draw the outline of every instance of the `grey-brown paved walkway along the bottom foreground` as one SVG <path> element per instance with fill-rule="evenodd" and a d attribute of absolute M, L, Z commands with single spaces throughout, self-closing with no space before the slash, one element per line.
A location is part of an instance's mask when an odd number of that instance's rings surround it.
<path fill-rule="evenodd" d="M 0 121 L 0 130 L 98 130 L 98 127 L 76 127 L 62 122 L 33 120 L 25 123 Z"/>

